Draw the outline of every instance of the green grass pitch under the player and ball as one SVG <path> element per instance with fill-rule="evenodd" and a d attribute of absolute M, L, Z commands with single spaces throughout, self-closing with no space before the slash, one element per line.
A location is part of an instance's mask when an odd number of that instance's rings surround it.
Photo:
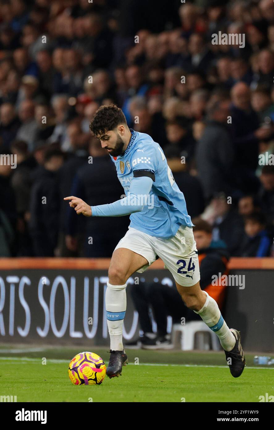
<path fill-rule="evenodd" d="M 77 387 L 68 378 L 68 363 L 90 348 L 13 348 L 0 348 L 0 394 L 17 396 L 17 402 L 258 402 L 274 394 L 274 368 L 255 368 L 248 354 L 250 368 L 235 379 L 222 352 L 127 350 L 122 376 Z M 91 350 L 107 362 L 107 348 Z"/>

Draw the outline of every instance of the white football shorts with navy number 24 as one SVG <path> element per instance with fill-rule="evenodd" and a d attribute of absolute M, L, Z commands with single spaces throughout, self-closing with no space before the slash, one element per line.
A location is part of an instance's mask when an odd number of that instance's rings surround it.
<path fill-rule="evenodd" d="M 181 226 L 170 239 L 150 236 L 128 227 L 115 250 L 118 248 L 131 249 L 146 258 L 149 264 L 137 270 L 139 273 L 143 273 L 158 256 L 164 261 L 164 268 L 170 271 L 179 285 L 191 287 L 200 280 L 198 252 L 192 227 Z"/>

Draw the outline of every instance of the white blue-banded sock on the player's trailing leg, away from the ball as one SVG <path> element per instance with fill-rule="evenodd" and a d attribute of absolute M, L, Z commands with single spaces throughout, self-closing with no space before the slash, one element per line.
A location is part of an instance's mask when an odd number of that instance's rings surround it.
<path fill-rule="evenodd" d="M 236 342 L 234 335 L 223 319 L 216 301 L 210 297 L 206 291 L 204 291 L 204 293 L 207 295 L 204 306 L 200 310 L 194 312 L 198 313 L 206 325 L 216 333 L 224 350 L 231 351 Z"/>

